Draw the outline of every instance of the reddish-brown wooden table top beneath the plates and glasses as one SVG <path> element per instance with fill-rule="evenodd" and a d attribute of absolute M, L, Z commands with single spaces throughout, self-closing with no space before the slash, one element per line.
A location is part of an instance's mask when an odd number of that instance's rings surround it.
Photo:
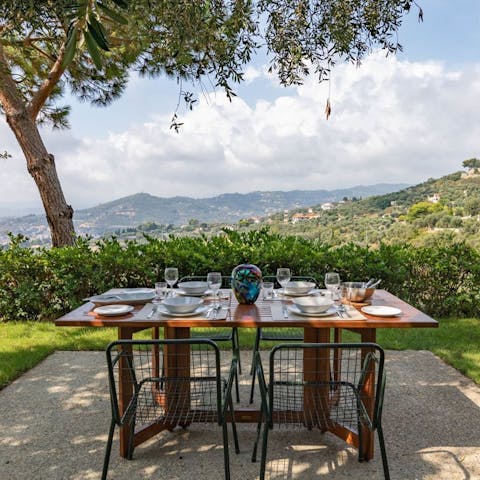
<path fill-rule="evenodd" d="M 150 328 L 150 327 L 300 327 L 300 328 L 435 328 L 438 322 L 420 310 L 412 307 L 400 298 L 385 290 L 376 290 L 372 305 L 388 305 L 399 308 L 402 313 L 395 317 L 374 317 L 363 313 L 362 320 L 349 318 L 279 318 L 275 315 L 277 309 L 272 309 L 272 303 L 278 300 L 262 300 L 260 297 L 253 305 L 239 305 L 232 295 L 229 313 L 225 320 L 215 320 L 199 317 L 186 318 L 151 318 L 139 316 L 143 305 L 121 317 L 102 317 L 93 312 L 94 304 L 87 302 L 55 321 L 57 326 L 71 327 L 119 327 L 119 328 Z"/>

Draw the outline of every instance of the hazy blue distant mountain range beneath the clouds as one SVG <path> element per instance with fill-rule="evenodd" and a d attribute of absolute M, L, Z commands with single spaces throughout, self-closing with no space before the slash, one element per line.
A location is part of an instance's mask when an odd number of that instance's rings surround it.
<path fill-rule="evenodd" d="M 360 185 L 336 190 L 292 190 L 288 192 L 225 193 L 210 198 L 162 198 L 148 193 L 137 193 L 74 213 L 78 234 L 99 236 L 118 229 L 155 222 L 184 225 L 195 219 L 205 223 L 235 223 L 242 218 L 263 217 L 275 212 L 343 198 L 365 198 L 383 195 L 407 187 L 406 184 Z M 27 215 L 0 221 L 0 243 L 5 243 L 6 232 L 22 233 L 32 238 L 49 235 L 44 215 Z"/>

